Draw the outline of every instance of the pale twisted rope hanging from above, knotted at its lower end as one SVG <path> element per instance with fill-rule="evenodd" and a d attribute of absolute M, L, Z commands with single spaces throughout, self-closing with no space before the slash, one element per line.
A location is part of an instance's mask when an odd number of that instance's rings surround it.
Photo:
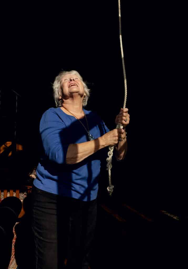
<path fill-rule="evenodd" d="M 125 72 L 125 63 L 124 63 L 124 56 L 123 56 L 123 45 L 122 45 L 122 37 L 121 37 L 121 7 L 120 7 L 120 0 L 118 0 L 119 5 L 119 32 L 120 32 L 120 47 L 121 47 L 121 58 L 122 58 L 122 65 L 123 65 L 123 76 L 124 76 L 124 87 L 125 87 L 125 98 L 124 98 L 124 104 L 123 108 L 126 106 L 127 101 L 127 79 L 126 79 L 126 72 Z M 123 128 L 123 125 L 117 124 L 116 129 Z M 109 192 L 109 195 L 112 195 L 114 186 L 111 183 L 111 169 L 112 169 L 112 156 L 113 156 L 113 150 L 114 146 L 109 147 L 108 152 L 108 158 L 106 159 L 107 165 L 106 170 L 108 170 L 108 176 L 109 176 L 109 186 L 107 187 L 107 191 Z"/>

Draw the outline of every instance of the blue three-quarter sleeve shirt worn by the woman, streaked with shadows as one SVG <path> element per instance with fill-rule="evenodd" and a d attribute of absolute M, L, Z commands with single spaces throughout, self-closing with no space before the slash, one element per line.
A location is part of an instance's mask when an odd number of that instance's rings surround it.
<path fill-rule="evenodd" d="M 98 138 L 109 132 L 100 117 L 83 109 L 89 132 Z M 88 129 L 86 119 L 80 119 Z M 107 158 L 108 148 L 98 150 L 78 164 L 66 164 L 69 144 L 88 141 L 88 133 L 79 120 L 61 108 L 50 108 L 40 121 L 42 155 L 37 166 L 34 186 L 46 192 L 91 201 L 97 197 L 100 161 Z"/>

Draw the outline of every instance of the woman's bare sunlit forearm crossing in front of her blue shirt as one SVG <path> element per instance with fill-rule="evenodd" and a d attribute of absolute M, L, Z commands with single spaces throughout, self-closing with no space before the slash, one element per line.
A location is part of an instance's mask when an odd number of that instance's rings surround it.
<path fill-rule="evenodd" d="M 77 164 L 106 146 L 107 141 L 103 137 L 88 142 L 70 144 L 67 150 L 66 163 Z"/>

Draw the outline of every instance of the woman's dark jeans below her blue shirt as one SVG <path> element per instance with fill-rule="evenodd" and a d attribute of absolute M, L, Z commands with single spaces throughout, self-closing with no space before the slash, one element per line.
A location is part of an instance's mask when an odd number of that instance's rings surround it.
<path fill-rule="evenodd" d="M 87 268 L 96 226 L 97 203 L 32 189 L 34 269 Z"/>

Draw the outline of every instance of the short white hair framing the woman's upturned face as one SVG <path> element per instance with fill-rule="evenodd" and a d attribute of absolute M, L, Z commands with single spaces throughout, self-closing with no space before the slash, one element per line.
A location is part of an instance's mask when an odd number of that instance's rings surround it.
<path fill-rule="evenodd" d="M 85 82 L 83 82 L 83 79 L 81 77 L 81 75 L 75 71 L 75 70 L 71 70 L 71 71 L 61 71 L 57 77 L 55 77 L 54 83 L 53 83 L 53 95 L 54 95 L 54 100 L 55 100 L 55 105 L 56 107 L 61 107 L 62 106 L 62 99 L 59 99 L 60 96 L 62 96 L 61 93 L 61 79 L 63 76 L 65 75 L 76 75 L 79 77 L 79 79 L 82 81 L 83 87 L 84 87 L 84 92 L 85 92 L 85 96 L 83 98 L 83 107 L 85 107 L 87 105 L 88 102 L 88 98 L 90 95 L 90 89 L 88 89 L 87 85 Z"/>

